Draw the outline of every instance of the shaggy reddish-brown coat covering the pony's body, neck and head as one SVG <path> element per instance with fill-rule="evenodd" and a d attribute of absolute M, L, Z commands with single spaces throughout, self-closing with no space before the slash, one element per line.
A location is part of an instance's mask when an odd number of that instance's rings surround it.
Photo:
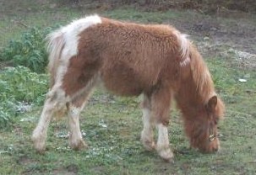
<path fill-rule="evenodd" d="M 50 102 L 58 99 L 59 88 L 68 97 L 68 108 L 71 104 L 83 108 L 90 89 L 101 82 L 118 95 L 144 94 L 142 107 L 151 111 L 156 124 L 166 126 L 175 98 L 191 146 L 206 152 L 219 149 L 217 121 L 224 104 L 216 96 L 202 56 L 185 34 L 170 25 L 101 18 L 100 24 L 79 32 L 78 52 L 68 58 L 61 87 L 56 85 L 57 72 L 65 64 L 61 58 L 68 41 L 62 32 L 53 36 L 52 45 L 58 45 L 58 50 L 50 56 L 51 87 L 55 89 Z"/>

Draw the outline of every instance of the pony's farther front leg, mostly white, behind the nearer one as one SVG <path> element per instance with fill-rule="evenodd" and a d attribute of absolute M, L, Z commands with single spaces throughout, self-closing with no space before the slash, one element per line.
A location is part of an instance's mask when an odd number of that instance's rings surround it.
<path fill-rule="evenodd" d="M 142 142 L 144 148 L 148 151 L 155 149 L 155 141 L 153 135 L 153 129 L 155 127 L 155 119 L 151 114 L 150 98 L 144 94 L 144 100 L 142 102 L 142 112 L 143 112 L 143 130 L 141 132 L 140 141 Z"/>

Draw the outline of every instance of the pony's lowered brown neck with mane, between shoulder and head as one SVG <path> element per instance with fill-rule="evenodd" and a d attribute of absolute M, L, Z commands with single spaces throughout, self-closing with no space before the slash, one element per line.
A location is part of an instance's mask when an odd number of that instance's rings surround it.
<path fill-rule="evenodd" d="M 182 67 L 182 78 L 176 94 L 177 106 L 187 116 L 204 110 L 205 103 L 215 94 L 210 72 L 202 56 L 196 48 L 190 49 L 190 65 Z"/>

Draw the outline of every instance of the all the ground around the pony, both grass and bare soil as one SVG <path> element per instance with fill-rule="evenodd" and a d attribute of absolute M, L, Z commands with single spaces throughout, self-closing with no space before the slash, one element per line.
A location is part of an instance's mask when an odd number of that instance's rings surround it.
<path fill-rule="evenodd" d="M 136 21 L 172 24 L 190 35 L 212 73 L 217 92 L 226 103 L 221 121 L 221 151 L 201 154 L 189 148 L 182 120 L 172 110 L 169 126 L 174 162 L 163 162 L 144 151 L 139 98 L 120 98 L 97 90 L 81 116 L 84 140 L 90 148 L 68 147 L 67 120 L 53 121 L 47 150 L 39 155 L 30 135 L 41 107 L 16 117 L 10 129 L 0 129 L 1 174 L 255 174 L 256 173 L 256 21 L 255 14 L 224 12 L 208 15 L 193 10 L 145 12 L 134 7 L 78 8 L 46 0 L 0 0 L 0 47 L 30 26 L 68 24 L 87 13 Z M 245 79 L 247 82 L 241 82 Z"/>

